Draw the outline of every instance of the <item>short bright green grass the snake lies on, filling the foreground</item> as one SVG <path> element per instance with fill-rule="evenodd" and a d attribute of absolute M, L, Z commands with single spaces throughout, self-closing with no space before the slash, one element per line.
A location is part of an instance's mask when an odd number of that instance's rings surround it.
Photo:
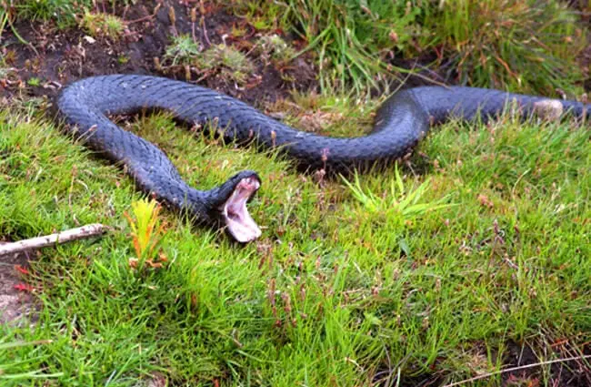
<path fill-rule="evenodd" d="M 342 135 L 359 134 L 375 106 L 308 103 Z M 586 129 L 453 122 L 423 141 L 428 159 L 411 159 L 422 173 L 393 166 L 348 178 L 352 187 L 318 185 L 282 158 L 195 137 L 165 116 L 133 129 L 195 187 L 257 170 L 250 209 L 262 239 L 239 247 L 164 211 L 167 261 L 135 270 L 124 214 L 142 195 L 130 179 L 51 123 L 0 113 L 0 235 L 114 228 L 31 262 L 40 320 L 0 327 L 3 386 L 131 386 L 153 372 L 173 385 L 355 386 L 388 368 L 393 385 L 398 372 L 452 382 L 498 370 L 509 341 L 543 353 L 552 338 L 591 340 Z"/>

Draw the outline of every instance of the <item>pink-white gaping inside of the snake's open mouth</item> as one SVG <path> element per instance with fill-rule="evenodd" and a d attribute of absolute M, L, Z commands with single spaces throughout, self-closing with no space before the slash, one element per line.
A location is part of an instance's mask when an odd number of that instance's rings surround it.
<path fill-rule="evenodd" d="M 222 207 L 225 227 L 239 242 L 246 243 L 261 236 L 261 229 L 246 209 L 246 202 L 252 197 L 261 183 L 256 178 L 243 178 Z"/>

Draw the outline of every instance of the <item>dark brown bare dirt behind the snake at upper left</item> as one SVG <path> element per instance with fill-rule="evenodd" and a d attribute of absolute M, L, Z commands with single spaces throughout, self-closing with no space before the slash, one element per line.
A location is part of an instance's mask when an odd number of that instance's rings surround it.
<path fill-rule="evenodd" d="M 225 42 L 246 53 L 260 36 L 281 34 L 281 31 L 255 31 L 247 21 L 209 3 L 205 3 L 203 15 L 197 8 L 197 22 L 194 24 L 190 4 L 169 0 L 144 1 L 115 8 L 115 15 L 126 22 L 125 34 L 117 41 L 89 38 L 79 28 L 60 31 L 50 23 L 17 23 L 16 30 L 31 46 L 24 46 L 9 31 L 5 31 L 2 56 L 6 64 L 15 69 L 17 77 L 9 83 L 0 83 L 0 95 L 14 96 L 20 92 L 26 96 L 54 97 L 60 87 L 76 79 L 105 74 L 152 74 L 186 80 L 185 71 L 165 71 L 155 64 L 155 58 L 164 56 L 172 36 L 194 34 L 195 42 L 204 49 Z M 171 9 L 175 14 L 174 25 L 171 23 Z M 201 16 L 204 25 L 200 25 Z M 235 39 L 232 37 L 233 27 L 249 33 Z M 284 37 L 293 41 L 290 36 Z M 256 57 L 249 58 L 255 65 L 255 71 L 248 75 L 245 87 L 228 85 L 215 75 L 202 77 L 199 84 L 259 106 L 263 101 L 287 97 L 292 89 L 316 87 L 316 70 L 306 56 L 296 58 L 284 68 L 275 68 Z M 296 75 L 297 82 L 286 82 L 282 73 Z M 32 78 L 40 85 L 27 85 Z M 195 82 L 198 78 L 192 75 L 191 81 Z"/>

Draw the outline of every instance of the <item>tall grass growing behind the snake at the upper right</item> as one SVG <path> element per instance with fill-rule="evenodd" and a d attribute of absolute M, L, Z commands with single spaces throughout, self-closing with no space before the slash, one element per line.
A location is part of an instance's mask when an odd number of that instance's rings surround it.
<path fill-rule="evenodd" d="M 434 70 L 457 71 L 451 80 L 475 87 L 554 94 L 578 92 L 573 84 L 583 80 L 576 57 L 586 29 L 556 0 L 239 0 L 228 10 L 258 29 L 277 20 L 301 36 L 327 89 L 363 92 L 404 77 L 401 59 L 429 55 Z"/>

